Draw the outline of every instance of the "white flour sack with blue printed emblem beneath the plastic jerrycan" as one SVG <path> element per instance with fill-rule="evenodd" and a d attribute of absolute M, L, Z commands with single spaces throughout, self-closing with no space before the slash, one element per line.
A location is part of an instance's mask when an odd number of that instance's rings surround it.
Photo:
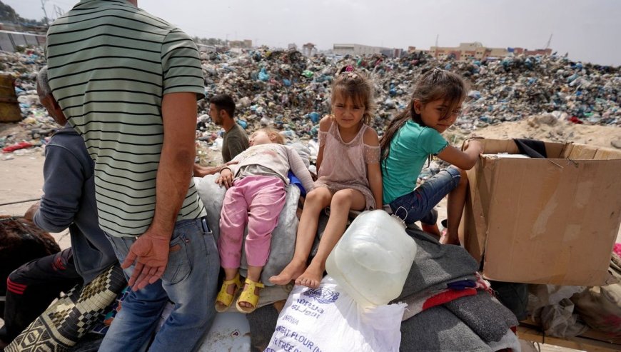
<path fill-rule="evenodd" d="M 362 308 L 325 276 L 319 288 L 293 288 L 266 352 L 396 352 L 404 311 L 405 303 Z"/>

